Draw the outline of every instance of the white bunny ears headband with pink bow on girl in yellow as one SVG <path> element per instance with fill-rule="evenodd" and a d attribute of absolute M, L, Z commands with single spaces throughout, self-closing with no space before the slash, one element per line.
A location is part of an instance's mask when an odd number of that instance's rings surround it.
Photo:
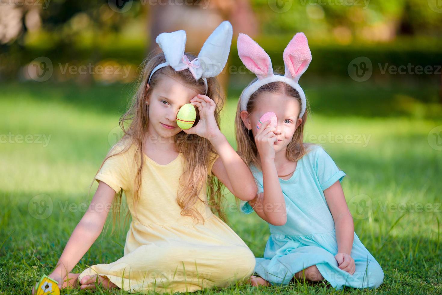
<path fill-rule="evenodd" d="M 202 77 L 207 93 L 207 78 L 217 76 L 225 67 L 227 57 L 229 57 L 230 45 L 232 44 L 232 34 L 232 25 L 227 20 L 223 21 L 210 34 L 204 42 L 198 57 L 193 61 L 189 61 L 184 54 L 186 31 L 179 30 L 159 34 L 155 41 L 163 50 L 166 62 L 157 65 L 152 70 L 147 83 L 150 83 L 150 79 L 156 70 L 170 65 L 175 71 L 189 69 L 196 80 Z"/>

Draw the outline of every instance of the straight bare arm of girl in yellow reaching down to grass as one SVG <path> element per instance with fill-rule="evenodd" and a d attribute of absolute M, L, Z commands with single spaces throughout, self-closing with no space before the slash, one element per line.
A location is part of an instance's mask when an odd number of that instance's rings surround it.
<path fill-rule="evenodd" d="M 59 287 L 67 274 L 99 237 L 114 196 L 115 191 L 100 181 L 88 210 L 72 232 L 57 262 L 57 267 L 50 274 L 51 278 L 58 281 Z"/>

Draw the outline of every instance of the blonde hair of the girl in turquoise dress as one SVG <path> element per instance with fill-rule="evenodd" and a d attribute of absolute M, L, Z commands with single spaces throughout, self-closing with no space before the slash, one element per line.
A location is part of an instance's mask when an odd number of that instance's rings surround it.
<path fill-rule="evenodd" d="M 254 83 L 258 78 L 255 78 L 250 82 L 249 85 Z M 245 88 L 244 88 L 245 89 Z M 243 90 L 244 92 L 244 90 Z M 246 111 L 248 111 L 249 115 L 255 110 L 258 97 L 262 97 L 266 93 L 276 93 L 282 94 L 286 96 L 293 97 L 299 103 L 299 109 L 301 110 L 301 98 L 296 89 L 291 87 L 290 85 L 284 82 L 271 82 L 268 84 L 264 84 L 258 90 L 253 92 L 250 96 L 250 99 L 247 103 Z M 242 93 L 241 93 L 242 95 Z M 307 107 L 309 107 L 307 105 Z M 238 152 L 243 161 L 250 166 L 253 164 L 255 167 L 261 169 L 258 161 L 258 150 L 256 149 L 255 139 L 253 138 L 253 134 L 251 130 L 244 125 L 243 120 L 240 117 L 240 100 L 238 100 L 238 106 L 236 107 L 236 117 L 235 117 L 235 135 L 236 135 L 236 144 L 238 146 Z M 304 126 L 307 120 L 307 109 L 302 116 L 302 123 L 297 127 L 295 133 L 293 134 L 293 138 L 287 146 L 286 157 L 289 161 L 298 161 L 301 159 L 306 153 L 309 151 L 309 147 L 312 146 L 309 143 L 304 143 Z M 299 114 L 297 114 L 299 116 Z"/>

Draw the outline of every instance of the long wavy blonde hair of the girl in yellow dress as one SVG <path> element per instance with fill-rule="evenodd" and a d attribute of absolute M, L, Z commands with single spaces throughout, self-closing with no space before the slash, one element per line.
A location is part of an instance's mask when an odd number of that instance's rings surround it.
<path fill-rule="evenodd" d="M 196 58 L 192 54 L 185 53 L 189 60 Z M 145 105 L 146 98 L 152 93 L 153 89 L 160 83 L 160 80 L 164 76 L 172 77 L 176 80 L 180 80 L 183 84 L 187 85 L 189 88 L 194 89 L 198 93 L 204 93 L 206 88 L 202 79 L 195 80 L 189 69 L 182 71 L 175 71 L 170 66 L 165 66 L 158 69 L 150 80 L 150 87 L 146 91 L 146 84 L 152 69 L 163 62 L 166 59 L 163 53 L 151 54 L 147 57 L 141 64 L 142 70 L 138 77 L 137 88 L 135 94 L 132 97 L 132 101 L 128 107 L 128 110 L 123 114 L 119 120 L 119 125 L 122 128 L 124 135 L 117 144 L 122 142 L 127 142 L 126 147 L 118 152 L 109 152 L 107 157 L 103 160 L 100 165 L 99 170 L 103 166 L 104 162 L 109 158 L 116 156 L 120 153 L 126 152 L 132 143 L 136 144 L 135 161 L 137 163 L 137 174 L 135 177 L 135 183 L 133 184 L 133 203 L 135 203 L 141 198 L 141 173 L 144 165 L 144 141 L 145 134 L 148 130 L 149 124 L 149 105 Z M 220 92 L 220 86 L 218 84 L 217 78 L 207 78 L 207 93 L 215 103 L 216 109 L 214 112 L 215 120 L 217 122 L 218 128 L 220 127 L 220 111 L 222 109 L 224 98 Z M 197 113 L 197 118 L 195 123 L 198 123 L 199 115 Z M 209 140 L 206 138 L 199 137 L 196 134 L 187 134 L 184 131 L 179 132 L 174 138 L 176 149 L 183 153 L 184 169 L 183 174 L 179 178 L 179 189 L 177 192 L 177 203 L 181 207 L 181 215 L 190 216 L 195 221 L 204 222 L 202 215 L 193 208 L 194 204 L 198 201 L 198 194 L 201 192 L 204 184 L 207 185 L 207 199 L 202 200 L 207 205 L 210 206 L 213 213 L 217 214 L 223 221 L 227 222 L 225 213 L 222 211 L 222 202 L 225 200 L 223 194 L 223 188 L 221 181 L 217 180 L 215 176 L 208 175 L 207 165 L 209 161 L 213 160 L 210 158 L 210 154 L 216 154 L 216 150 L 210 144 Z M 112 149 L 111 149 L 112 150 Z M 97 171 L 97 173 L 99 172 Z M 122 191 L 116 194 L 116 198 L 113 201 L 113 227 L 112 233 L 114 233 L 115 223 L 117 218 L 119 218 L 120 206 L 122 203 Z M 129 210 L 126 211 L 126 220 L 129 218 Z"/>

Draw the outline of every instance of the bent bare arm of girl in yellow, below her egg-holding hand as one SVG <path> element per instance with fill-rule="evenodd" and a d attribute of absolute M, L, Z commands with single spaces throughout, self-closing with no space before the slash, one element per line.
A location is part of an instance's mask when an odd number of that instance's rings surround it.
<path fill-rule="evenodd" d="M 221 132 L 210 140 L 220 157 L 213 163 L 212 172 L 238 199 L 249 201 L 258 191 L 250 169 L 230 146 Z M 227 168 L 226 168 L 227 167 Z"/>

